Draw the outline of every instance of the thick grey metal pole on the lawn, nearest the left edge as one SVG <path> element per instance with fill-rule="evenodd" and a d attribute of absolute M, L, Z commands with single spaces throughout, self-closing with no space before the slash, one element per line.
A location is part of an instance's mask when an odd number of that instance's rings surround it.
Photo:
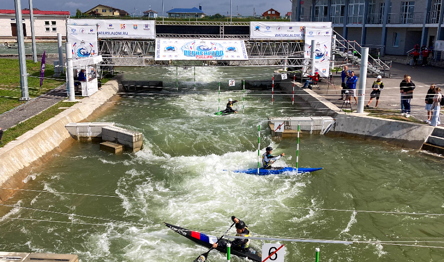
<path fill-rule="evenodd" d="M 23 39 L 23 23 L 22 23 L 22 4 L 20 0 L 15 2 L 15 24 L 17 26 L 17 46 L 19 49 L 19 66 L 20 66 L 20 87 L 22 89 L 22 97 L 20 101 L 28 101 L 28 73 L 26 70 L 26 56 L 25 56 L 25 40 Z"/>

